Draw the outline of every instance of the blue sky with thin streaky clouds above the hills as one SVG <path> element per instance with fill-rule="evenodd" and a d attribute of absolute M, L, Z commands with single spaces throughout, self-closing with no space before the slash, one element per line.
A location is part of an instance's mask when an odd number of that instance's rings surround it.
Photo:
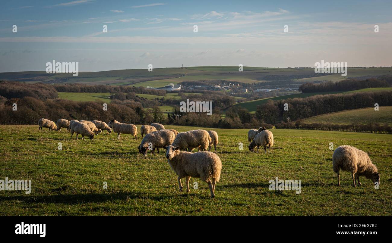
<path fill-rule="evenodd" d="M 0 72 L 45 70 L 53 59 L 78 62 L 80 72 L 149 64 L 314 67 L 321 60 L 392 66 L 390 0 L 1 0 L 1 6 Z"/>

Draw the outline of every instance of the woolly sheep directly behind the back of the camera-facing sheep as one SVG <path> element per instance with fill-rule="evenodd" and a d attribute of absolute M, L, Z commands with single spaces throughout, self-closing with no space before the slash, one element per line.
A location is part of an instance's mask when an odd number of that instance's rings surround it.
<path fill-rule="evenodd" d="M 199 129 L 178 133 L 172 146 L 180 147 L 181 149 L 194 149 L 200 146 L 201 151 L 207 151 L 211 141 L 209 133 L 206 130 Z"/>

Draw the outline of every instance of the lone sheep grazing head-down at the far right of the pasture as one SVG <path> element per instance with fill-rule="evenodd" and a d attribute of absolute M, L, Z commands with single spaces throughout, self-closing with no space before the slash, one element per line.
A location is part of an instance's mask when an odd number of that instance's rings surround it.
<path fill-rule="evenodd" d="M 359 176 L 365 176 L 373 183 L 380 184 L 377 167 L 372 163 L 368 154 L 352 146 L 343 145 L 335 149 L 332 155 L 332 167 L 334 172 L 338 174 L 338 186 L 340 186 L 340 169 L 351 172 L 354 187 L 357 186 L 355 180 L 358 180 L 358 185 L 362 185 L 359 182 Z"/>

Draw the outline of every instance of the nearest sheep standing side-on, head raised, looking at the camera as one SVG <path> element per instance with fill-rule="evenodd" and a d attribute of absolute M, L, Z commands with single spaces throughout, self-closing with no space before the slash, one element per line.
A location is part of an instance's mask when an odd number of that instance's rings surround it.
<path fill-rule="evenodd" d="M 209 151 L 196 153 L 180 151 L 180 147 L 172 145 L 163 146 L 163 148 L 166 149 L 169 166 L 178 175 L 180 191 L 182 191 L 182 178 L 185 177 L 187 192 L 189 193 L 189 180 L 191 177 L 195 177 L 207 182 L 211 197 L 215 197 L 215 184 L 219 182 L 222 169 L 222 162 L 218 155 Z"/>

